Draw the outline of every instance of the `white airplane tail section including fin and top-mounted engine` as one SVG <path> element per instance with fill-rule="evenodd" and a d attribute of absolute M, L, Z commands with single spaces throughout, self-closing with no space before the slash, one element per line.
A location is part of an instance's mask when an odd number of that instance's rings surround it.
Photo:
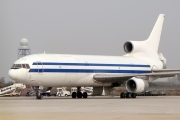
<path fill-rule="evenodd" d="M 166 59 L 162 53 L 158 53 L 161 32 L 164 22 L 164 14 L 160 14 L 152 32 L 147 40 L 128 41 L 124 44 L 126 56 L 133 56 L 148 61 L 154 68 L 166 67 Z"/>

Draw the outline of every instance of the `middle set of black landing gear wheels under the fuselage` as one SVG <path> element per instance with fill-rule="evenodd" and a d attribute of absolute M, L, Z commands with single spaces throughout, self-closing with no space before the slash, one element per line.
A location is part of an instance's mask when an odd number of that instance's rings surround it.
<path fill-rule="evenodd" d="M 81 92 L 81 87 L 77 87 L 77 92 L 72 93 L 72 98 L 87 98 L 87 92 Z"/>

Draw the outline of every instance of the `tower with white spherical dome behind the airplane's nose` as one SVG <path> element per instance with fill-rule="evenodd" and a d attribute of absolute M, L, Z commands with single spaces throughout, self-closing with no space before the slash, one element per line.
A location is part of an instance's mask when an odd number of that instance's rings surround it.
<path fill-rule="evenodd" d="M 31 54 L 31 49 L 28 47 L 28 40 L 26 38 L 21 39 L 20 45 L 21 47 L 18 49 L 18 58 Z"/>

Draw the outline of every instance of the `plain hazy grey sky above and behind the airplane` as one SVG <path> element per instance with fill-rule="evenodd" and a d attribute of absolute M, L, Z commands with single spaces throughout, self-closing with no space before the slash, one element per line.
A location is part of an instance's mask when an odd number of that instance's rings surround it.
<path fill-rule="evenodd" d="M 180 0 L 0 0 L 0 77 L 18 58 L 20 40 L 31 53 L 124 55 L 129 40 L 148 38 L 165 14 L 159 52 L 180 69 Z"/>

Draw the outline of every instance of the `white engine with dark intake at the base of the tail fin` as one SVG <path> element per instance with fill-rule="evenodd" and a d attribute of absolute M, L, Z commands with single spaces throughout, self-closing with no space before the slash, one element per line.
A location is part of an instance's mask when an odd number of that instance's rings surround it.
<path fill-rule="evenodd" d="M 144 41 L 128 41 L 124 44 L 124 51 L 126 53 L 141 52 L 145 50 L 145 46 L 146 45 Z"/>

